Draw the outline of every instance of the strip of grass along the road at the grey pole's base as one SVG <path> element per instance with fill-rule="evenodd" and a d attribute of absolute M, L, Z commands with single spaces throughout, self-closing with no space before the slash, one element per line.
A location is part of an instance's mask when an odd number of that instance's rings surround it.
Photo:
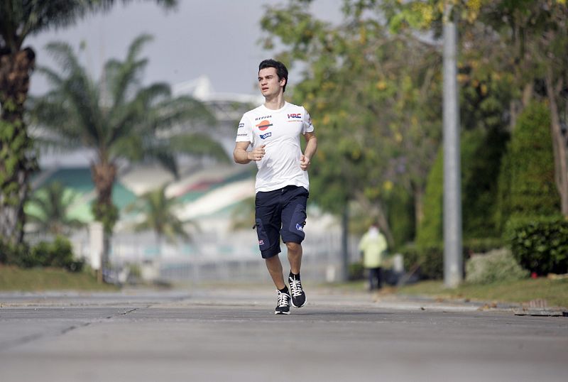
<path fill-rule="evenodd" d="M 422 281 L 398 288 L 396 293 L 488 302 L 529 302 L 542 299 L 547 301 L 549 307 L 568 307 L 568 278 L 529 278 L 485 285 L 463 284 L 455 289 L 445 288 L 442 281 Z"/>

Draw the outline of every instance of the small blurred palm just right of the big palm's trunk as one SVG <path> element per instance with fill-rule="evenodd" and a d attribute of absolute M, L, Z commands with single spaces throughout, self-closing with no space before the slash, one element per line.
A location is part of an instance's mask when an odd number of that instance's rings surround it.
<path fill-rule="evenodd" d="M 126 207 L 127 212 L 138 212 L 143 214 L 143 220 L 134 225 L 135 231 L 153 230 L 161 248 L 163 239 L 175 243 L 178 238 L 190 241 L 191 236 L 184 228 L 185 224 L 197 224 L 191 221 L 182 222 L 175 214 L 175 207 L 181 204 L 175 197 L 166 195 L 168 185 L 163 185 L 155 190 L 146 192 L 136 202 Z"/>

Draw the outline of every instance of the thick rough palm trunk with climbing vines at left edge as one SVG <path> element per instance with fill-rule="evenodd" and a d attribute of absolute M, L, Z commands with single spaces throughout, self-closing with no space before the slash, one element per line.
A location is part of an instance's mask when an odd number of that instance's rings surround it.
<path fill-rule="evenodd" d="M 31 48 L 0 51 L 0 240 L 12 245 L 23 241 L 23 204 L 29 176 L 37 168 L 33 143 L 23 123 L 34 64 Z"/>

